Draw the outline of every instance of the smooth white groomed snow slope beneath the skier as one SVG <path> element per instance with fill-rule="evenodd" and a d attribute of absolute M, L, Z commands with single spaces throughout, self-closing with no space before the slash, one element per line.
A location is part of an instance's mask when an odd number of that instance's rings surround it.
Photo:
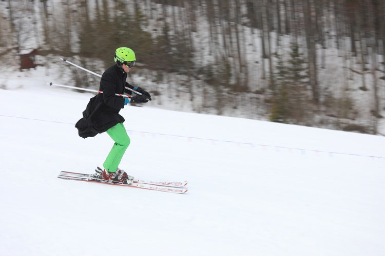
<path fill-rule="evenodd" d="M 384 255 L 385 138 L 127 106 L 130 175 L 184 195 L 67 181 L 112 142 L 74 123 L 92 94 L 0 90 L 0 255 Z"/>

